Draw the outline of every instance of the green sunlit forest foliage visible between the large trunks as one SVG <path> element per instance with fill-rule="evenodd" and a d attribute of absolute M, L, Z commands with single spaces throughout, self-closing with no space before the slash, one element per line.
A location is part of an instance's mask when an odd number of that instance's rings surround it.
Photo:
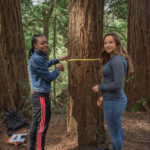
<path fill-rule="evenodd" d="M 31 47 L 30 40 L 33 34 L 45 34 L 49 40 L 49 59 L 68 55 L 68 0 L 22 1 L 22 17 L 25 36 L 26 56 Z M 46 15 L 47 14 L 47 15 Z M 47 18 L 47 19 L 46 19 Z M 45 22 L 44 22 L 45 19 Z M 47 22 L 46 22 L 47 20 Z M 44 24 L 45 23 L 45 24 Z M 127 47 L 127 2 L 126 0 L 106 0 L 104 8 L 104 34 L 116 32 L 124 47 Z M 54 68 L 51 68 L 51 70 Z M 52 84 L 52 97 L 68 90 L 68 69 Z M 58 96 L 59 97 L 59 96 Z M 58 100 L 56 100 L 58 101 Z M 52 101 L 53 102 L 53 101 Z M 67 99 L 64 107 L 55 111 L 67 111 Z M 54 106 L 54 105 L 53 105 Z M 135 106 L 135 108 L 138 106 Z"/>

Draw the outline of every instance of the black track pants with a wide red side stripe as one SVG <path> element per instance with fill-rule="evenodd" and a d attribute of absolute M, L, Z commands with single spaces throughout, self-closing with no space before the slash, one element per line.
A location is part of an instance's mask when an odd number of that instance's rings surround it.
<path fill-rule="evenodd" d="M 34 112 L 29 134 L 29 150 L 44 150 L 45 135 L 51 118 L 49 94 L 34 92 L 31 99 Z"/>

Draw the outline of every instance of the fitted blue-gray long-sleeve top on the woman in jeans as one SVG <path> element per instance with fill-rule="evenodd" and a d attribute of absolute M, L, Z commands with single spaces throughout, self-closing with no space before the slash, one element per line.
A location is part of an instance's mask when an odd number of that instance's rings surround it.
<path fill-rule="evenodd" d="M 103 66 L 103 83 L 98 85 L 104 100 L 126 99 L 123 90 L 124 76 L 127 71 L 127 61 L 123 56 L 114 55 Z"/>

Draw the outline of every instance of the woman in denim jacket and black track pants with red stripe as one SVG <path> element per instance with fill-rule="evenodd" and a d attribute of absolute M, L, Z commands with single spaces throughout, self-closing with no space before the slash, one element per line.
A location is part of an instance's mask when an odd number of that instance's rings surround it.
<path fill-rule="evenodd" d="M 44 150 L 45 135 L 49 126 L 51 117 L 51 107 L 49 93 L 51 90 L 51 81 L 55 80 L 60 71 L 64 71 L 62 64 L 57 64 L 67 57 L 61 57 L 52 61 L 46 61 L 48 52 L 48 41 L 44 35 L 33 35 L 31 40 L 32 48 L 29 51 L 29 75 L 32 91 L 33 120 L 30 127 L 30 150 Z M 49 72 L 49 67 L 56 65 L 53 72 Z"/>

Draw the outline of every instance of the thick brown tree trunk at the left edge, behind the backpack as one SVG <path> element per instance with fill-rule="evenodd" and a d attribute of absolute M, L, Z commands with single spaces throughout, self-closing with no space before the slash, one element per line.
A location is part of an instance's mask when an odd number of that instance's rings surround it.
<path fill-rule="evenodd" d="M 0 0 L 0 109 L 23 109 L 29 93 L 20 0 Z"/>

